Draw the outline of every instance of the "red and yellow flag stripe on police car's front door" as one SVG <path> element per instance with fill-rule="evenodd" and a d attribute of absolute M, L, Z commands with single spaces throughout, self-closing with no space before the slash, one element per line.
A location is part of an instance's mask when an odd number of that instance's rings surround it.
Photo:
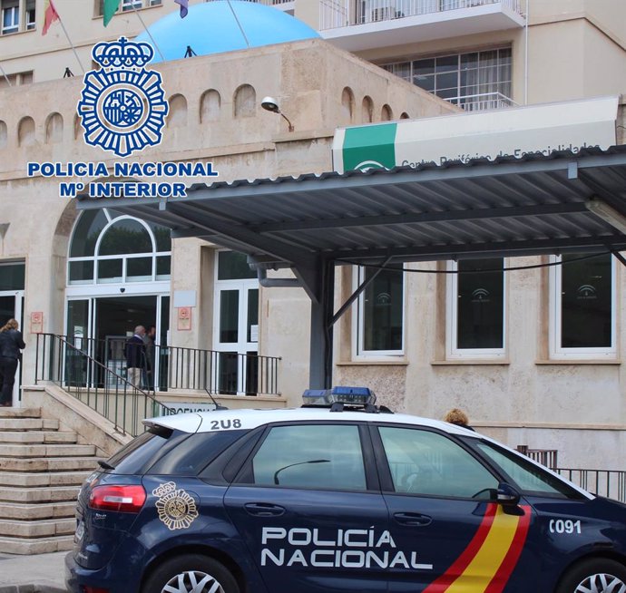
<path fill-rule="evenodd" d="M 489 503 L 467 548 L 425 593 L 500 593 L 522 553 L 531 522 L 530 507 L 516 509 L 520 514 Z"/>

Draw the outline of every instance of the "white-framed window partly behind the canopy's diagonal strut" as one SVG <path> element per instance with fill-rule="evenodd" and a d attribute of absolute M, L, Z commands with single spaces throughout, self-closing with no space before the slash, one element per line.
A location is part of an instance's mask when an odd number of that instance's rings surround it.
<path fill-rule="evenodd" d="M 374 276 L 373 279 L 371 279 Z M 355 288 L 370 280 L 354 306 L 357 356 L 404 354 L 405 278 L 401 266 L 355 268 Z"/>

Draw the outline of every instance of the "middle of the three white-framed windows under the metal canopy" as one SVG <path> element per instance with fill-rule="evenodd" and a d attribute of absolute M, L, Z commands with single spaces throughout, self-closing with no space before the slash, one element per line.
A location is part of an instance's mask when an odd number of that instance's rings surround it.
<path fill-rule="evenodd" d="M 448 358 L 504 358 L 504 259 L 449 262 L 446 315 Z"/>

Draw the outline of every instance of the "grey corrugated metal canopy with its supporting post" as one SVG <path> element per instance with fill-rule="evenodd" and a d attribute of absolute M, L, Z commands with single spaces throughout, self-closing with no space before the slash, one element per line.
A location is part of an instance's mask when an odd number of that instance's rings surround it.
<path fill-rule="evenodd" d="M 263 277 L 291 268 L 311 298 L 310 386 L 329 387 L 336 265 L 616 253 L 626 248 L 626 146 L 78 202 L 105 207 L 246 253 Z"/>

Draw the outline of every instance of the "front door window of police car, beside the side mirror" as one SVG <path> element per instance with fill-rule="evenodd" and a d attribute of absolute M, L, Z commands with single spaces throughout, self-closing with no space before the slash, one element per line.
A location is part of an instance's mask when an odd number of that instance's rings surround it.
<path fill-rule="evenodd" d="M 378 428 L 394 490 L 399 493 L 489 500 L 498 480 L 443 434 L 413 428 Z"/>

